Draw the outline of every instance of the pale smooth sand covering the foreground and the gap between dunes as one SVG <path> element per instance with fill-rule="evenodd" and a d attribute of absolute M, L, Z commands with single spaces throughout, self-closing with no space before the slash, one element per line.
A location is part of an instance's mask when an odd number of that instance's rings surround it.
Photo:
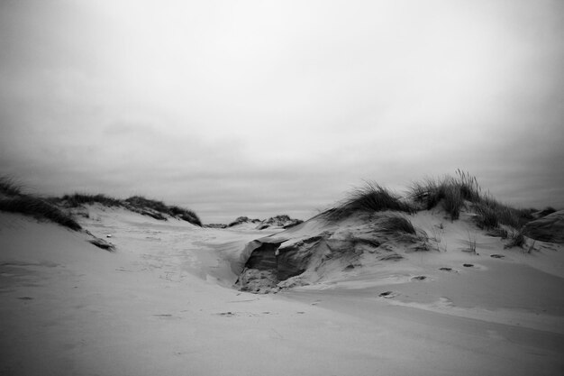
<path fill-rule="evenodd" d="M 264 231 L 100 206 L 81 223 L 116 252 L 0 214 L 1 375 L 564 373 L 561 246 L 504 250 L 468 218 L 423 212 L 414 224 L 437 232 L 444 252 L 367 260 L 264 296 L 230 289 L 245 243 Z M 468 230 L 478 255 L 461 251 Z"/>

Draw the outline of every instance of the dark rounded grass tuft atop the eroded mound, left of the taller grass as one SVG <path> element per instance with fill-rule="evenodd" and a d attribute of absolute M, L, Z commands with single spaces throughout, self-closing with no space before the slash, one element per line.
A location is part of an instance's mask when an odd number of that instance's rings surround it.
<path fill-rule="evenodd" d="M 354 189 L 340 206 L 324 213 L 329 220 L 344 219 L 354 213 L 374 213 L 386 210 L 414 213 L 410 203 L 376 183 L 368 182 Z"/>

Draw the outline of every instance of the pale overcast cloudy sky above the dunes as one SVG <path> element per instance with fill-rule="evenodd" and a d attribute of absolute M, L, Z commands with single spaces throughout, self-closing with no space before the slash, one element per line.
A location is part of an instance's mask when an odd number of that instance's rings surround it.
<path fill-rule="evenodd" d="M 0 174 L 206 223 L 468 170 L 564 207 L 564 2 L 0 1 Z"/>

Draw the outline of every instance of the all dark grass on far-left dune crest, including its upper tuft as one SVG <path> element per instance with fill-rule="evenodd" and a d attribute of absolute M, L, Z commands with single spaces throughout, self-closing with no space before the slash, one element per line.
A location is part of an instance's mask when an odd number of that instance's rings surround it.
<path fill-rule="evenodd" d="M 0 177 L 0 193 L 4 196 L 0 198 L 0 211 L 48 220 L 75 231 L 82 228 L 72 216 L 49 200 L 23 194 L 22 187 L 12 178 Z"/>

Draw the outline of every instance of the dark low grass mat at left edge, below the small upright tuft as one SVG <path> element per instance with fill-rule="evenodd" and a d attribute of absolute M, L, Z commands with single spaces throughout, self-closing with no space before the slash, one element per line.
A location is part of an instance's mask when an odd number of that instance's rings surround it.
<path fill-rule="evenodd" d="M 64 213 L 59 207 L 39 197 L 21 195 L 0 200 L 0 210 L 10 213 L 20 213 L 37 219 L 47 219 L 59 225 L 78 231 L 82 227 L 72 216 Z"/>

